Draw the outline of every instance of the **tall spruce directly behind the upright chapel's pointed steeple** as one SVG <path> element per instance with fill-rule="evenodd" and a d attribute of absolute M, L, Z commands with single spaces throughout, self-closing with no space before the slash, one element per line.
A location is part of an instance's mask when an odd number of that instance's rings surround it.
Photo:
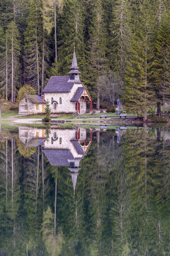
<path fill-rule="evenodd" d="M 84 9 L 78 0 L 66 0 L 58 31 L 58 73 L 67 75 L 72 64 L 73 47 L 81 76 L 85 72 Z"/>

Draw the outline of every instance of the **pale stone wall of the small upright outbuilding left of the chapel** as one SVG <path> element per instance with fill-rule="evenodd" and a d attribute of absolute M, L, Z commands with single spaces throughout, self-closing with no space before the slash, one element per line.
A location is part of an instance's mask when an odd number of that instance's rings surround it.
<path fill-rule="evenodd" d="M 28 110 L 25 110 L 25 105 L 27 105 Z M 42 106 L 44 104 L 39 104 L 39 110 L 37 110 L 37 104 L 33 104 L 29 99 L 23 98 L 19 103 L 19 114 L 40 114 L 42 113 Z"/>

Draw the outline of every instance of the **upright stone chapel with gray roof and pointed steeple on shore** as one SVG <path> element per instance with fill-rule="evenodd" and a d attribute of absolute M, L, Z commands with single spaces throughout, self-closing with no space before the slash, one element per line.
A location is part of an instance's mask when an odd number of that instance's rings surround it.
<path fill-rule="evenodd" d="M 52 113 L 86 113 L 86 102 L 90 102 L 92 109 L 92 98 L 84 84 L 79 78 L 80 71 L 75 55 L 72 58 L 72 66 L 68 76 L 52 76 L 41 95 L 45 101 L 50 102 Z"/>

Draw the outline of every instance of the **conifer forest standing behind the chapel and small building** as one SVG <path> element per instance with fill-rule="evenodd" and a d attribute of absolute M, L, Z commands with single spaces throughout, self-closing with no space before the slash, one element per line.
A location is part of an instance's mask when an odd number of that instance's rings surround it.
<path fill-rule="evenodd" d="M 167 0 L 0 0 L 0 93 L 15 102 L 67 75 L 73 47 L 97 108 L 121 99 L 128 111 L 164 107 L 170 97 Z"/>

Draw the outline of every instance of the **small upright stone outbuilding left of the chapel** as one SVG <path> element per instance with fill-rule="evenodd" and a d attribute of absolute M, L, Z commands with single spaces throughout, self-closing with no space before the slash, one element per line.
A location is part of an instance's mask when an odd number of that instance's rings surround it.
<path fill-rule="evenodd" d="M 38 95 L 25 95 L 19 103 L 19 114 L 45 113 L 46 101 Z"/>

